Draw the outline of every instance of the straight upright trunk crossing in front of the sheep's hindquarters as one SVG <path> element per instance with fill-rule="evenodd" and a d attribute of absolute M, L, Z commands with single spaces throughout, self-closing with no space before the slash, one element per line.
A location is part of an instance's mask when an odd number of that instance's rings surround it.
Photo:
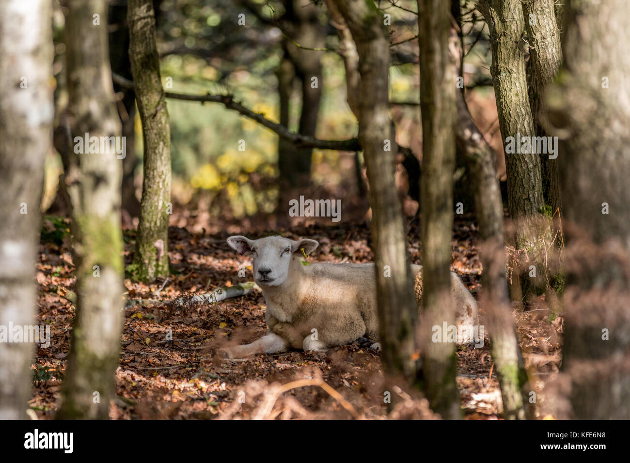
<path fill-rule="evenodd" d="M 455 344 L 433 342 L 432 327 L 455 324 L 451 297 L 450 239 L 453 230 L 453 171 L 455 169 L 455 65 L 449 54 L 450 4 L 418 1 L 420 43 L 420 112 L 422 115 L 423 315 L 422 376 L 433 411 L 442 418 L 461 418 L 457 391 Z M 454 45 L 451 43 L 450 45 Z"/>

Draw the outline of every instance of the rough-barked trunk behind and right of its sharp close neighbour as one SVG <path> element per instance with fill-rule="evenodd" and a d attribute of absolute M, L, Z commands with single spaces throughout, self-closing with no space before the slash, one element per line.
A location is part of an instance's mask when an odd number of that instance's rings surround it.
<path fill-rule="evenodd" d="M 529 38 L 531 81 L 529 86 L 529 102 L 534 118 L 534 129 L 539 137 L 548 134 L 540 123 L 542 93 L 551 83 L 562 62 L 560 31 L 556 25 L 553 0 L 525 0 L 523 2 L 525 26 Z M 549 159 L 549 154 L 541 153 L 542 194 L 544 202 L 551 207 L 554 214 L 561 205 L 558 165 L 556 159 Z"/>

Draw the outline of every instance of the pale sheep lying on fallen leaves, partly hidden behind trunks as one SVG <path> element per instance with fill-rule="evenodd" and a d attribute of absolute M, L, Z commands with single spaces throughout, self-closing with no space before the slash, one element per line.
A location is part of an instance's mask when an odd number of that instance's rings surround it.
<path fill-rule="evenodd" d="M 256 240 L 231 236 L 227 244 L 239 254 L 253 255 L 253 273 L 266 302 L 268 331 L 259 340 L 222 350 L 226 357 L 285 352 L 289 348 L 326 351 L 367 336 L 379 339 L 376 278 L 373 263 L 303 265 L 306 255 L 319 246 L 314 239 L 294 241 L 281 236 Z M 412 265 L 416 295 L 421 296 L 420 265 Z M 455 273 L 452 275 L 458 327 L 457 342 L 473 341 L 478 323 L 473 296 Z M 375 343 L 372 348 L 379 348 Z"/>

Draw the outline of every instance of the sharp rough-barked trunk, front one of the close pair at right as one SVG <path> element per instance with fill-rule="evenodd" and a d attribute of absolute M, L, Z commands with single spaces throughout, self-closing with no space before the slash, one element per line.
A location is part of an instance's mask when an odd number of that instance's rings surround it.
<path fill-rule="evenodd" d="M 525 77 L 525 26 L 520 0 L 481 0 L 478 9 L 490 29 L 492 66 L 490 71 L 496 95 L 499 125 L 504 143 L 507 138 L 533 137 L 534 120 L 527 98 Z M 543 196 L 541 158 L 539 154 L 505 154 L 508 183 L 508 207 L 515 222 L 515 247 L 525 252 L 520 268 L 523 294 L 544 287 L 544 250 L 542 237 L 548 220 L 542 216 Z M 513 264 L 515 265 L 515 264 Z M 536 277 L 529 277 L 529 268 L 536 268 Z"/>

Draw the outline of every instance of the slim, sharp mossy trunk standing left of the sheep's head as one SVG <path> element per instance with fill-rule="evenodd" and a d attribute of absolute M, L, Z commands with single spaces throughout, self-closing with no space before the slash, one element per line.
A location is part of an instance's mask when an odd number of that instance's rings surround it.
<path fill-rule="evenodd" d="M 153 3 L 130 0 L 128 8 L 129 55 L 144 140 L 142 211 L 131 273 L 138 280 L 152 281 L 169 274 L 171 131 L 159 72 Z"/>

